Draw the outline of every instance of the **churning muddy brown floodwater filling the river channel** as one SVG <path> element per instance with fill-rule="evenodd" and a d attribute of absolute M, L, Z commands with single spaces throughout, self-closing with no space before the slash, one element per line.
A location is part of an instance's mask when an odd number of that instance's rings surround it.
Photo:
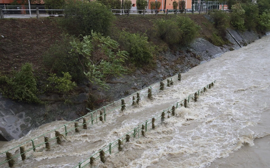
<path fill-rule="evenodd" d="M 131 142 L 124 143 L 123 151 L 114 150 L 112 155 L 106 155 L 105 164 L 95 161 L 95 166 L 268 167 L 270 36 L 192 68 L 182 74 L 181 82 L 175 81 L 173 86 L 154 94 L 153 100 L 144 99 L 134 107 L 127 105 L 124 112 L 113 110 L 106 116 L 107 122 L 88 125 L 79 133 L 71 132 L 62 144 L 55 144 L 50 150 L 28 152 L 27 156 L 32 156 L 15 167 L 73 167 L 214 80 L 214 87 L 200 95 L 196 103 L 176 109 L 176 117 L 166 118 L 164 124 L 146 132 L 145 137 L 131 138 Z M 54 121 L 19 140 L 0 143 L 0 153 L 66 123 Z M 73 124 L 68 125 L 68 129 L 72 127 Z M 54 132 L 47 136 L 54 137 Z M 23 146 L 27 149 L 32 144 Z M 37 151 L 43 148 L 38 147 Z M 0 155 L 0 161 L 4 159 Z"/>

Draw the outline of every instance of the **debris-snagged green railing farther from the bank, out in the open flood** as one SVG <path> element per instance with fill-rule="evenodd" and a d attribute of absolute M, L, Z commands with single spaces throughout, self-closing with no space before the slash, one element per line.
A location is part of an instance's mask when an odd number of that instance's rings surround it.
<path fill-rule="evenodd" d="M 193 93 L 193 94 L 187 96 L 186 98 L 182 99 L 181 101 L 177 102 L 176 104 L 173 104 L 173 106 L 176 106 L 175 109 L 177 109 L 178 106 L 179 106 L 179 103 L 180 103 L 181 107 L 183 106 L 183 105 L 182 105 L 182 102 L 183 102 L 183 101 L 186 100 L 187 103 L 189 103 L 190 98 L 193 99 L 193 98 L 195 97 L 195 94 L 197 94 L 197 96 L 199 96 L 199 93 L 202 93 L 202 92 L 205 91 L 204 88 L 209 88 L 209 85 L 213 85 L 213 83 L 216 83 L 216 80 L 214 80 L 214 81 L 211 82 L 210 84 L 206 85 L 205 87 L 202 87 L 201 89 L 197 90 L 195 93 Z M 159 116 L 159 115 L 161 115 L 163 112 L 164 112 L 165 115 L 168 114 L 169 111 L 170 111 L 170 108 L 172 108 L 173 106 L 171 106 L 171 107 L 169 107 L 169 108 L 163 110 L 162 112 L 158 113 L 157 115 L 155 115 L 154 117 L 150 118 L 149 120 L 146 120 L 146 121 L 143 122 L 142 124 L 138 125 L 138 127 L 135 127 L 133 130 L 131 130 L 130 132 L 126 133 L 125 135 L 122 135 L 120 138 L 118 138 L 117 140 L 113 141 L 113 142 L 110 143 L 109 145 L 107 145 L 107 146 L 101 148 L 98 152 L 95 152 L 95 153 L 94 153 L 93 155 L 91 155 L 89 158 L 87 158 L 87 159 L 85 159 L 84 161 L 80 162 L 79 164 L 77 164 L 77 165 L 76 165 L 75 167 L 73 167 L 73 168 L 77 168 L 77 167 L 81 168 L 82 163 L 88 161 L 88 160 L 91 159 L 91 158 L 95 158 L 94 156 L 95 156 L 95 155 L 98 155 L 98 153 L 101 152 L 101 151 L 103 151 L 103 150 L 105 150 L 105 154 L 108 153 L 108 152 L 109 152 L 110 154 L 112 154 L 112 148 L 111 148 L 112 144 L 114 144 L 114 143 L 117 142 L 118 140 L 121 141 L 121 139 L 122 139 L 123 137 L 125 137 L 126 135 L 129 135 L 131 132 L 134 132 L 134 133 L 131 134 L 131 135 L 133 135 L 133 137 L 136 138 L 137 133 L 139 133 L 139 132 L 142 130 L 142 129 L 140 129 L 140 127 L 142 127 L 142 125 L 145 125 L 145 132 L 147 132 L 147 125 L 152 123 L 152 119 L 155 118 L 155 117 L 157 117 L 157 116 Z M 168 110 L 168 111 L 167 111 L 167 110 Z M 161 118 L 161 116 L 159 116 L 159 117 L 156 119 L 156 121 L 157 121 L 159 118 Z M 150 122 L 149 122 L 149 121 L 150 121 Z M 149 122 L 149 123 L 148 123 L 148 122 Z M 151 129 L 150 129 L 150 130 L 151 130 Z M 138 135 L 138 138 L 140 138 L 140 135 Z M 125 140 L 125 139 L 124 139 L 124 140 Z M 124 141 L 124 140 L 122 140 L 122 141 Z M 115 146 L 117 146 L 117 145 L 119 145 L 118 142 L 117 142 L 117 144 L 116 144 Z M 114 146 L 114 147 L 115 147 L 115 146 Z M 109 149 L 106 150 L 106 148 L 108 148 L 108 147 L 109 147 Z M 96 157 L 95 160 L 97 160 L 98 158 L 99 158 L 99 156 Z M 90 161 L 88 161 L 87 164 L 83 165 L 83 167 L 85 167 L 85 166 L 87 166 L 87 165 L 89 165 L 89 164 L 90 164 Z"/>

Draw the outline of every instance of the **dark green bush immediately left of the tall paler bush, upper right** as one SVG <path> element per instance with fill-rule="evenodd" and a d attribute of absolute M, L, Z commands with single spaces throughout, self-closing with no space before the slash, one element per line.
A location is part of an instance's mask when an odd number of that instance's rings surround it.
<path fill-rule="evenodd" d="M 214 25 L 218 30 L 218 35 L 225 38 L 226 28 L 229 27 L 230 22 L 229 16 L 221 10 L 211 13 L 211 16 L 214 20 Z"/>

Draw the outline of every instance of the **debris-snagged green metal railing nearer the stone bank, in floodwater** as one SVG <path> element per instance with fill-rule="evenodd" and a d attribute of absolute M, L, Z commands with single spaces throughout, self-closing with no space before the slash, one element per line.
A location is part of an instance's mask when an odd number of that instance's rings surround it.
<path fill-rule="evenodd" d="M 175 77 L 177 77 L 177 78 L 173 80 L 173 78 L 175 78 Z M 163 80 L 163 81 L 161 81 L 161 82 L 167 81 L 167 84 L 168 84 L 168 80 L 169 80 L 169 82 L 171 83 L 171 82 L 177 81 L 177 80 L 179 80 L 179 79 L 180 79 L 180 81 L 181 81 L 181 74 L 176 74 L 176 75 L 174 75 L 174 76 L 172 76 L 172 77 L 170 77 L 170 78 L 167 78 L 167 79 L 165 79 L 165 80 Z M 150 89 L 150 92 L 151 92 L 152 94 L 153 94 L 154 92 L 157 93 L 157 92 L 159 92 L 159 89 L 161 88 L 161 86 L 160 86 L 160 87 L 157 87 L 157 88 L 155 88 L 155 89 L 154 89 L 154 87 L 156 87 L 157 85 L 159 85 L 161 82 L 152 84 L 152 85 L 150 85 L 149 87 L 146 87 L 145 89 L 140 90 L 140 91 L 138 91 L 138 92 L 136 92 L 136 93 L 133 93 L 133 94 L 131 94 L 131 95 L 125 97 L 125 98 L 122 98 L 122 99 L 129 99 L 130 97 L 132 97 L 132 96 L 134 96 L 134 95 L 137 95 L 137 93 L 142 93 L 144 90 L 148 90 L 148 89 Z M 165 83 L 165 85 L 166 85 L 166 83 Z M 142 100 L 144 100 L 144 99 L 146 99 L 146 98 L 148 97 L 148 96 L 147 96 L 148 94 L 149 94 L 149 92 L 146 92 L 145 94 L 140 95 L 140 98 L 137 97 L 134 101 L 136 101 L 137 99 L 139 99 L 140 101 L 142 101 Z M 13 156 L 11 159 L 9 159 L 9 160 L 6 159 L 5 161 L 1 161 L 1 162 L 0 162 L 0 165 L 2 165 L 2 164 L 4 164 L 4 163 L 8 163 L 8 161 L 11 161 L 11 160 L 13 160 L 13 159 L 15 159 L 15 158 L 18 158 L 19 156 L 21 156 L 21 155 L 23 155 L 23 154 L 26 154 L 27 152 L 30 152 L 31 150 L 33 150 L 34 152 L 41 152 L 41 151 L 43 151 L 44 149 L 46 149 L 46 148 L 42 148 L 42 149 L 36 151 L 36 149 L 37 149 L 38 147 L 41 147 L 42 145 L 46 144 L 46 142 L 43 140 L 43 139 L 44 139 L 44 136 L 46 136 L 46 134 L 49 134 L 49 133 L 52 133 L 52 132 L 55 132 L 55 131 L 59 131 L 59 132 L 62 132 L 62 134 L 64 134 L 65 136 L 67 136 L 69 132 L 75 130 L 76 128 L 78 128 L 78 127 L 80 127 L 80 126 L 83 126 L 83 125 L 88 124 L 88 123 L 90 123 L 90 122 L 91 122 L 91 125 L 93 125 L 94 123 L 97 124 L 98 122 L 101 122 L 101 121 L 99 120 L 100 117 L 103 117 L 103 118 L 104 118 L 104 121 L 106 121 L 106 115 L 107 115 L 109 112 L 112 112 L 113 110 L 116 110 L 116 109 L 119 109 L 119 108 L 122 107 L 122 104 L 121 104 L 121 105 L 117 105 L 117 104 L 119 104 L 119 103 L 121 102 L 122 99 L 120 99 L 120 100 L 118 100 L 118 101 L 115 101 L 115 102 L 113 102 L 113 103 L 111 103 L 111 104 L 108 104 L 108 105 L 106 105 L 106 106 L 104 106 L 104 107 L 102 107 L 102 108 L 100 108 L 100 109 L 98 109 L 98 110 L 95 110 L 95 111 L 93 111 L 93 112 L 90 112 L 90 113 L 88 113 L 88 114 L 86 114 L 86 115 L 84 115 L 84 116 L 82 116 L 82 117 L 80 117 L 80 118 L 77 118 L 76 120 L 70 121 L 70 122 L 68 122 L 67 124 L 64 124 L 64 125 L 62 125 L 62 126 L 60 126 L 60 127 L 58 127 L 58 128 L 55 128 L 54 130 L 51 130 L 51 131 L 49 131 L 49 132 L 46 132 L 46 133 L 44 133 L 44 134 L 42 134 L 42 135 L 40 135 L 40 136 L 38 136 L 38 137 L 35 137 L 35 138 L 33 138 L 33 139 L 29 140 L 29 141 L 26 141 L 26 142 L 24 142 L 24 143 L 22 143 L 22 144 L 19 144 L 19 145 L 15 146 L 15 147 L 13 147 L 13 148 L 11 148 L 11 149 L 5 151 L 5 152 L 0 153 L 0 156 L 1 156 L 1 155 L 6 154 L 6 152 L 9 152 L 9 151 L 11 151 L 11 150 L 13 150 L 13 149 L 16 149 L 16 150 L 19 149 L 19 147 L 21 147 L 22 145 L 26 145 L 26 144 L 28 144 L 28 143 L 32 143 L 32 147 L 31 147 L 30 149 L 27 149 L 27 150 L 26 150 L 25 152 L 23 152 L 23 153 L 19 153 L 19 154 L 14 155 L 14 156 Z M 133 100 L 128 101 L 127 103 L 125 103 L 125 105 L 128 105 L 128 104 L 131 105 L 132 102 L 133 102 Z M 117 106 L 117 107 L 114 107 L 113 109 L 106 111 L 106 109 L 107 109 L 108 107 L 110 107 L 110 106 Z M 103 111 L 102 114 L 101 114 L 101 113 L 98 113 L 98 112 L 101 111 L 101 110 Z M 72 129 L 67 130 L 67 125 L 68 125 L 68 124 L 75 123 L 76 121 L 79 121 L 80 119 L 85 118 L 85 117 L 90 117 L 91 119 L 88 120 L 88 121 L 86 121 L 86 122 L 83 123 L 83 124 L 78 125 L 77 127 L 74 127 L 74 128 L 72 128 Z M 94 121 L 95 121 L 95 122 L 94 122 Z M 103 122 L 103 121 L 102 121 L 102 122 Z M 73 135 L 73 134 L 71 134 L 71 135 Z M 42 138 L 42 140 L 41 140 L 41 138 Z M 50 139 L 48 140 L 48 142 L 50 142 L 50 141 L 52 141 L 52 140 L 54 140 L 54 139 L 56 139 L 56 138 L 58 138 L 58 136 L 55 136 L 55 137 L 53 137 L 53 138 L 50 138 Z M 39 141 L 39 144 L 35 146 L 35 142 L 37 142 L 37 141 Z M 40 143 L 41 141 L 44 141 L 44 142 L 43 142 L 43 143 Z M 53 144 L 51 144 L 51 146 L 54 145 L 54 144 L 56 144 L 56 142 L 53 143 Z M 29 155 L 27 158 L 29 158 L 30 156 L 32 156 L 32 155 Z M 22 160 L 18 160 L 18 161 L 15 162 L 14 164 L 19 163 L 20 161 L 22 161 Z"/>

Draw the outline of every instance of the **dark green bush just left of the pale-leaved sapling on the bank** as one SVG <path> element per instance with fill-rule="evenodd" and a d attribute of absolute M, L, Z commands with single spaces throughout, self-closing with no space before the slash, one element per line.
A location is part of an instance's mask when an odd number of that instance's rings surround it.
<path fill-rule="evenodd" d="M 83 73 L 82 63 L 87 61 L 84 57 L 70 53 L 72 46 L 70 41 L 78 39 L 73 36 L 62 36 L 61 41 L 56 41 L 49 50 L 44 53 L 43 60 L 46 67 L 52 73 L 61 76 L 62 72 L 68 72 L 73 81 L 81 82 L 85 75 Z"/>

